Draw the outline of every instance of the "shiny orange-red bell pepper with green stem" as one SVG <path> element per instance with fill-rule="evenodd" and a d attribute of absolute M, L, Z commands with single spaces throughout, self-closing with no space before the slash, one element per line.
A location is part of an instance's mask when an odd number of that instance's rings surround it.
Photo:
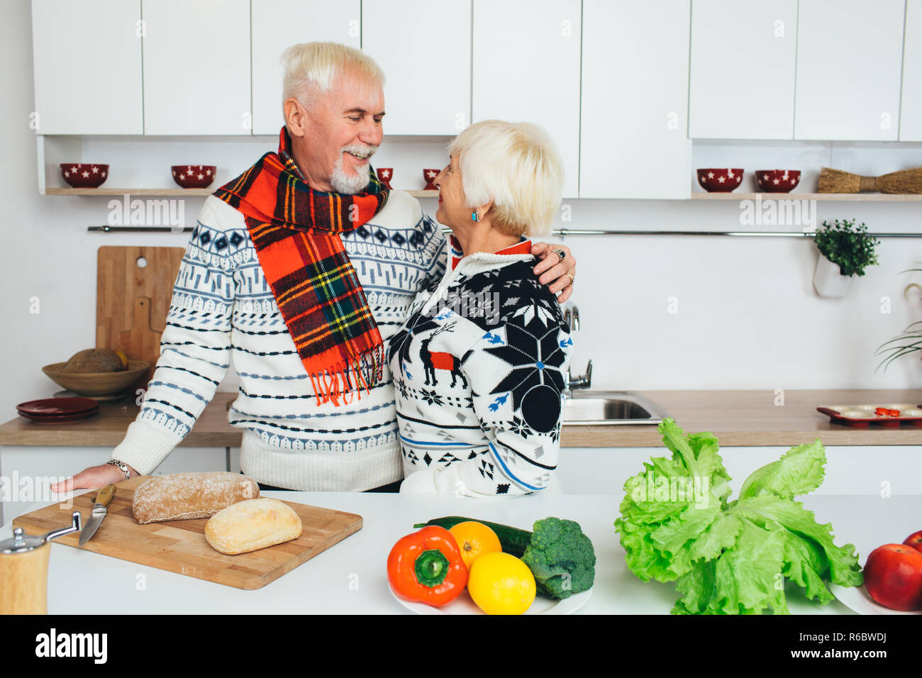
<path fill-rule="evenodd" d="M 441 607 L 467 586 L 467 565 L 452 533 L 432 525 L 394 544 L 387 556 L 387 580 L 404 598 Z"/>

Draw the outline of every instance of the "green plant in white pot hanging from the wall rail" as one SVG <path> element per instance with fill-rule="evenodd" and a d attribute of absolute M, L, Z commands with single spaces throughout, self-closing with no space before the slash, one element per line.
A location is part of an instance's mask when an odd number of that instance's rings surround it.
<path fill-rule="evenodd" d="M 844 297 L 855 276 L 877 265 L 875 250 L 881 241 L 869 237 L 868 227 L 856 226 L 855 220 L 823 221 L 813 242 L 820 250 L 813 273 L 813 287 L 820 296 Z"/>

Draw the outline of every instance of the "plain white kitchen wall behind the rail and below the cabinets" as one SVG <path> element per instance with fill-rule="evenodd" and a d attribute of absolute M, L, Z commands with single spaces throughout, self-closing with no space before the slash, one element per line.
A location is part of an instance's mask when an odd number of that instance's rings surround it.
<path fill-rule="evenodd" d="M 109 198 L 38 195 L 35 137 L 29 127 L 34 101 L 29 3 L 6 4 L 5 19 L 0 25 L 5 51 L 0 91 L 6 101 L 0 109 L 0 148 L 5 151 L 0 164 L 5 206 L 0 224 L 4 318 L 0 421 L 15 416 L 16 403 L 49 397 L 57 390 L 41 374 L 41 365 L 65 360 L 93 345 L 97 247 L 184 246 L 188 238 L 173 233 L 89 233 L 88 225 L 105 223 Z M 391 162 L 388 154 L 385 146 L 379 159 Z M 396 166 L 399 160 L 393 160 Z M 187 220 L 203 200 L 187 199 Z M 735 201 L 573 200 L 570 204 L 573 220 L 561 223 L 567 228 L 740 230 Z M 434 207 L 433 200 L 424 201 L 424 209 L 434 211 Z M 920 203 L 826 202 L 818 207 L 820 220 L 855 217 L 876 232 L 922 232 Z M 898 275 L 922 261 L 918 240 L 884 240 L 881 266 L 858 279 L 843 300 L 820 299 L 812 291 L 817 254 L 806 240 L 573 236 L 566 242 L 579 261 L 574 301 L 583 323 L 574 372 L 585 367 L 587 358 L 594 359 L 594 387 L 922 384 L 917 358 L 894 363 L 886 374 L 875 374 L 878 359 L 873 356 L 883 341 L 922 319 L 922 304 L 903 300 L 904 286 L 922 282 L 922 274 Z M 30 314 L 33 296 L 41 303 L 38 315 Z M 889 315 L 881 314 L 883 296 L 892 300 Z M 677 314 L 668 313 L 669 297 L 676 297 Z M 221 389 L 232 388 L 231 377 Z"/>

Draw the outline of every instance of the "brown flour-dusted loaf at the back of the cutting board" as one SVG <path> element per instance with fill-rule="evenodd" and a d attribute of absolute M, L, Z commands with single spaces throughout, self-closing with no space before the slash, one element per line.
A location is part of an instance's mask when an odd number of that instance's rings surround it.
<path fill-rule="evenodd" d="M 212 517 L 222 508 L 259 496 L 259 484 L 226 470 L 173 473 L 142 482 L 131 515 L 138 523 Z"/>

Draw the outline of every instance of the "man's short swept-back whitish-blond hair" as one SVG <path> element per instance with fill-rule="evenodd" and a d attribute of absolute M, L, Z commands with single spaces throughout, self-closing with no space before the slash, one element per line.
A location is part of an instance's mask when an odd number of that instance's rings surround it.
<path fill-rule="evenodd" d="M 302 42 L 282 53 L 285 69 L 282 105 L 292 97 L 311 109 L 344 74 L 357 77 L 369 89 L 384 87 L 384 71 L 371 56 L 338 42 Z"/>

